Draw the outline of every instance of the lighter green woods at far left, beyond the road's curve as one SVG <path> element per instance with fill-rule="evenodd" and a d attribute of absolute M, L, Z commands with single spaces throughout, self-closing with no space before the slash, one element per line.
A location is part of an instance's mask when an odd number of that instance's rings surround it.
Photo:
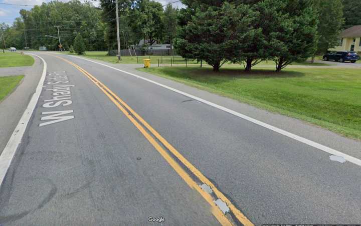
<path fill-rule="evenodd" d="M 50 50 L 57 50 L 59 40 L 55 25 L 62 25 L 60 36 L 64 47 L 69 48 L 75 36 L 81 33 L 89 50 L 103 50 L 107 46 L 104 43 L 105 22 L 101 19 L 101 13 L 102 10 L 90 2 L 55 0 L 36 5 L 30 10 L 21 9 L 21 16 L 15 19 L 12 26 L 3 23 L 0 29 L 9 47 L 38 49 L 44 45 Z"/>

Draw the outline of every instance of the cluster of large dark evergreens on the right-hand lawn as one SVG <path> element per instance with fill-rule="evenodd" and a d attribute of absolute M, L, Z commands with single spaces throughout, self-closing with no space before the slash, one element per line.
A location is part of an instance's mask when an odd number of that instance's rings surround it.
<path fill-rule="evenodd" d="M 215 71 L 274 60 L 276 71 L 339 43 L 341 0 L 183 0 L 174 46 Z"/>

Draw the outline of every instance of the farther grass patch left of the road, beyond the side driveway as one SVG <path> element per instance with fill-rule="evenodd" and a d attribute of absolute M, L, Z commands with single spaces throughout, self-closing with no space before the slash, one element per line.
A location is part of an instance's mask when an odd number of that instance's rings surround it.
<path fill-rule="evenodd" d="M 30 55 L 22 55 L 19 52 L 0 52 L 0 67 L 31 66 L 34 58 Z"/>

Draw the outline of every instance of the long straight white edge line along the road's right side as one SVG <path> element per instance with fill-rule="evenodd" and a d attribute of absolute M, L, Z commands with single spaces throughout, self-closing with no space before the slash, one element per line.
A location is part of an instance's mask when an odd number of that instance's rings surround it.
<path fill-rule="evenodd" d="M 118 68 L 109 66 L 109 65 L 106 65 L 106 64 L 104 64 L 104 63 L 100 63 L 100 62 L 93 61 L 93 60 L 86 59 L 86 58 L 79 57 L 79 56 L 73 56 L 73 55 L 70 55 L 70 56 L 76 57 L 76 58 L 80 58 L 80 59 L 84 59 L 84 60 L 87 60 L 87 61 L 90 61 L 90 62 L 93 62 L 93 63 L 98 63 L 98 64 L 100 64 L 100 65 L 103 65 L 103 66 L 112 68 L 112 69 L 114 69 L 114 70 L 118 70 L 118 71 L 121 71 L 121 72 L 123 72 L 123 73 L 129 74 L 129 75 L 132 75 L 132 76 L 135 76 L 135 77 L 137 77 L 137 78 L 140 78 L 140 79 L 149 81 L 149 82 L 151 82 L 151 83 L 153 83 L 153 84 L 159 85 L 159 86 L 161 86 L 161 87 L 164 87 L 164 88 L 166 88 L 166 89 L 172 90 L 172 91 L 177 92 L 177 93 L 179 93 L 179 94 L 182 94 L 182 95 L 188 96 L 188 97 L 190 97 L 190 98 L 196 99 L 196 100 L 198 100 L 198 101 L 200 101 L 200 102 L 206 103 L 206 104 L 208 104 L 208 105 L 210 105 L 210 106 L 216 107 L 216 108 L 218 108 L 218 109 L 220 109 L 220 110 L 226 111 L 226 112 L 228 112 L 228 113 L 230 113 L 230 114 L 233 114 L 233 115 L 238 116 L 238 117 L 240 117 L 240 118 L 243 118 L 243 119 L 245 119 L 245 120 L 251 121 L 251 122 L 253 122 L 253 123 L 255 123 L 255 124 L 258 124 L 258 125 L 260 125 L 260 126 L 263 126 L 263 127 L 265 127 L 265 128 L 268 128 L 268 129 L 270 129 L 270 130 L 272 130 L 272 131 L 278 132 L 278 133 L 280 133 L 280 134 L 282 134 L 282 135 L 288 136 L 288 137 L 290 137 L 290 138 L 292 138 L 292 139 L 298 140 L 298 141 L 300 141 L 300 142 L 302 142 L 302 143 L 305 143 L 305 144 L 308 144 L 308 145 L 310 145 L 310 146 L 313 146 L 313 147 L 315 147 L 315 148 L 317 148 L 317 149 L 320 149 L 320 150 L 322 150 L 322 151 L 325 151 L 325 152 L 327 152 L 327 153 L 330 153 L 330 154 L 333 154 L 333 155 L 337 155 L 337 156 L 342 156 L 342 157 L 343 157 L 344 159 L 346 159 L 347 161 L 352 162 L 352 163 L 354 163 L 354 164 L 356 164 L 356 165 L 361 166 L 361 159 L 355 158 L 355 157 L 353 157 L 353 156 L 351 156 L 351 155 L 348 155 L 348 154 L 345 154 L 345 153 L 343 153 L 343 152 L 341 152 L 341 151 L 332 149 L 332 148 L 330 148 L 330 147 L 328 147 L 328 146 L 319 144 L 319 143 L 317 143 L 317 142 L 314 142 L 314 141 L 309 140 L 309 139 L 307 139 L 307 138 L 304 138 L 304 137 L 302 137 L 302 136 L 293 134 L 293 133 L 288 132 L 288 131 L 286 131 L 286 130 L 283 130 L 283 129 L 281 129 L 281 128 L 277 128 L 277 127 L 275 127 L 275 126 L 273 126 L 273 125 L 270 125 L 270 124 L 267 124 L 267 123 L 265 123 L 265 122 L 259 121 L 259 120 L 255 119 L 255 118 L 252 118 L 252 117 L 249 117 L 249 116 L 244 115 L 244 114 L 242 114 L 242 113 L 239 113 L 239 112 L 237 112 L 237 111 L 231 110 L 231 109 L 229 109 L 229 108 L 227 108 L 227 107 L 218 105 L 218 104 L 216 104 L 216 103 L 210 102 L 210 101 L 205 100 L 205 99 L 202 99 L 202 98 L 200 98 L 200 97 L 191 95 L 191 94 L 189 94 L 189 93 L 187 93 L 187 92 L 183 92 L 183 91 L 180 91 L 180 90 L 178 90 L 178 89 L 169 87 L 169 86 L 167 86 L 167 85 L 158 83 L 158 82 L 153 81 L 153 80 L 150 80 L 150 79 L 148 79 L 148 78 L 145 78 L 145 77 L 142 77 L 142 76 L 139 76 L 139 75 L 136 75 L 136 74 L 133 74 L 133 73 L 130 73 L 130 72 L 127 72 L 127 71 L 124 71 L 124 70 L 121 70 L 121 69 L 118 69 Z"/>

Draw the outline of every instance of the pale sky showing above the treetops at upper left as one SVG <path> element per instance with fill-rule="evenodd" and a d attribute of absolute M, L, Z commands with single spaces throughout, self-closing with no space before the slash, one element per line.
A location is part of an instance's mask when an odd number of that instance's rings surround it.
<path fill-rule="evenodd" d="M 11 3 L 11 4 L 30 4 L 30 5 L 40 5 L 42 2 L 48 2 L 50 0 L 0 0 L 3 3 Z M 69 0 L 61 0 L 61 1 L 69 1 Z M 84 2 L 84 0 L 81 0 Z M 175 0 L 156 0 L 162 4 L 166 4 Z M 98 1 L 93 1 L 94 5 L 98 5 Z M 173 6 L 182 7 L 182 3 L 176 2 L 173 3 Z M 13 24 L 13 21 L 16 17 L 20 16 L 19 11 L 20 9 L 31 9 L 32 6 L 16 6 L 16 5 L 5 5 L 0 4 L 0 23 L 7 23 L 9 25 Z"/>

